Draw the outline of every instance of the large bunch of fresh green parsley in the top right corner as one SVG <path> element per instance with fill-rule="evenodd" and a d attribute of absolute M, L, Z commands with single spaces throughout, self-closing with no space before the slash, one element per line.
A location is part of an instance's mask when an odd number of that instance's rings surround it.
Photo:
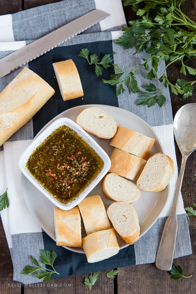
<path fill-rule="evenodd" d="M 183 98 L 192 96 L 193 84 L 196 80 L 187 82 L 177 79 L 176 83 L 172 84 L 166 75 L 166 70 L 174 62 L 180 62 L 180 73 L 185 76 L 187 74 L 196 75 L 196 69 L 186 64 L 187 60 L 196 57 L 196 24 L 181 10 L 181 4 L 185 0 L 122 1 L 124 6 L 132 5 L 139 18 L 129 21 L 130 26 L 123 27 L 123 35 L 115 43 L 123 46 L 124 49 L 135 46 L 134 54 L 146 51 L 149 56 L 143 58 L 140 66 L 126 72 L 114 65 L 117 73 L 112 74 L 109 81 L 103 80 L 104 83 L 116 85 L 117 96 L 125 91 L 124 86 L 128 87 L 129 93 L 140 92 L 134 71 L 144 66 L 147 71 L 146 79 L 157 78 L 165 87 L 170 86 L 172 93 L 182 94 Z M 167 61 L 167 65 L 163 75 L 158 78 L 158 66 L 163 60 Z M 120 79 L 122 76 L 123 78 Z M 142 93 L 137 105 L 147 104 L 150 107 L 155 103 L 158 103 L 159 106 L 165 103 L 162 91 L 157 90 L 155 85 L 150 83 L 149 86 L 143 88 L 148 92 Z"/>

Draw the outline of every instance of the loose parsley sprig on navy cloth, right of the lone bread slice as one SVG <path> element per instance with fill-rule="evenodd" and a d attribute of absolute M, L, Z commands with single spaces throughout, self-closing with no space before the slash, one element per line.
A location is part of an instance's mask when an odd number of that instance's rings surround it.
<path fill-rule="evenodd" d="M 101 76 L 103 68 L 107 69 L 108 67 L 110 67 L 109 63 L 112 62 L 113 59 L 110 57 L 110 54 L 105 54 L 102 60 L 99 62 L 97 54 L 93 53 L 89 56 L 89 52 L 90 52 L 89 49 L 83 48 L 81 49 L 78 56 L 85 58 L 88 61 L 89 65 L 95 64 L 96 75 Z M 89 58 L 90 58 L 90 61 L 89 61 Z"/>

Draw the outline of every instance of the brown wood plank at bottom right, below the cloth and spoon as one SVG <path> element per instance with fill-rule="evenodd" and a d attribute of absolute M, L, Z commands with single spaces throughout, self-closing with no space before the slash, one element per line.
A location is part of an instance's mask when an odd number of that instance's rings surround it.
<path fill-rule="evenodd" d="M 182 257 L 175 259 L 175 264 L 180 264 L 184 274 L 190 275 L 195 273 L 195 266 L 191 261 L 192 257 Z M 117 278 L 118 293 L 171 294 L 182 293 L 182 289 L 184 293 L 195 293 L 195 274 L 191 278 L 182 278 L 178 281 L 171 279 L 170 276 L 168 271 L 159 270 L 155 264 L 121 268 Z"/>

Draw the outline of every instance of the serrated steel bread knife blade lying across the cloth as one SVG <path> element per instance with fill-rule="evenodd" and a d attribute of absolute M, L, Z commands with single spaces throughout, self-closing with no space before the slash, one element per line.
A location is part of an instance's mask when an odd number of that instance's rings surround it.
<path fill-rule="evenodd" d="M 0 78 L 86 31 L 110 14 L 95 9 L 0 59 Z"/>

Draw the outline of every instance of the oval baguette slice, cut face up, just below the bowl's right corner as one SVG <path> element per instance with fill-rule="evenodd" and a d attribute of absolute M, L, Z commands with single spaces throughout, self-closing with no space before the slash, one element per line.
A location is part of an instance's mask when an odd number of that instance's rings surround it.
<path fill-rule="evenodd" d="M 105 196 L 113 201 L 133 203 L 140 198 L 141 191 L 137 185 L 115 173 L 108 173 L 101 182 Z"/>

